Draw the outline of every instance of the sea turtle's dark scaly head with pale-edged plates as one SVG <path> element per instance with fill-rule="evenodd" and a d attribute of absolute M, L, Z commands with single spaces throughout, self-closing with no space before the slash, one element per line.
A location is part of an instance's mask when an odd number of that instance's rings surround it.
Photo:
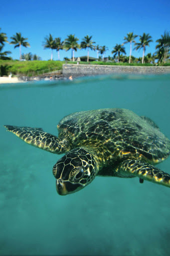
<path fill-rule="evenodd" d="M 88 185 L 96 175 L 96 164 L 91 153 L 76 148 L 59 159 L 52 170 L 60 195 L 74 193 Z"/>

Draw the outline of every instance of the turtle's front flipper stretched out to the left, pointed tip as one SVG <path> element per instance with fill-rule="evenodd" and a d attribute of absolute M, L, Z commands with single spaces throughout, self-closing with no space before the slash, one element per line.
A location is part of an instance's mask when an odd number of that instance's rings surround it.
<path fill-rule="evenodd" d="M 28 144 L 52 153 L 62 153 L 64 151 L 64 142 L 60 141 L 57 136 L 45 132 L 42 128 L 13 125 L 4 125 L 4 127 Z"/>

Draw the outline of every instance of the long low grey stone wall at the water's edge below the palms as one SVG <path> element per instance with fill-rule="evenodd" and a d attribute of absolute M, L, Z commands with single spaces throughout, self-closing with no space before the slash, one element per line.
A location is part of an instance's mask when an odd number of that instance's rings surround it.
<path fill-rule="evenodd" d="M 83 64 L 63 64 L 63 76 L 72 75 L 96 75 L 111 73 L 140 73 L 140 74 L 162 74 L 170 73 L 170 66 L 121 66 L 121 65 L 83 65 Z"/>

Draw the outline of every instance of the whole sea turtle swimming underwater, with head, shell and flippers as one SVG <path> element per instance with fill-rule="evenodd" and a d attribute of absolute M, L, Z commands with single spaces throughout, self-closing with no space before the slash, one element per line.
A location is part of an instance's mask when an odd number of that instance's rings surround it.
<path fill-rule="evenodd" d="M 154 165 L 170 154 L 170 140 L 146 116 L 123 108 L 81 111 L 57 125 L 58 137 L 42 128 L 4 125 L 26 143 L 61 154 L 53 166 L 61 195 L 76 192 L 96 175 L 139 177 L 170 187 L 170 174 Z"/>

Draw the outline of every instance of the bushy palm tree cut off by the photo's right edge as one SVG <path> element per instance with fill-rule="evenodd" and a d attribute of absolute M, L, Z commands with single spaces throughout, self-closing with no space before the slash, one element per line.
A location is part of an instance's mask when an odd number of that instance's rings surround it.
<path fill-rule="evenodd" d="M 168 52 L 170 50 L 170 32 L 165 31 L 164 35 L 161 35 L 161 38 L 156 40 L 156 42 L 159 42 L 156 45 L 156 49 L 159 49 L 159 53 L 162 52 L 164 63 L 167 59 Z"/>

